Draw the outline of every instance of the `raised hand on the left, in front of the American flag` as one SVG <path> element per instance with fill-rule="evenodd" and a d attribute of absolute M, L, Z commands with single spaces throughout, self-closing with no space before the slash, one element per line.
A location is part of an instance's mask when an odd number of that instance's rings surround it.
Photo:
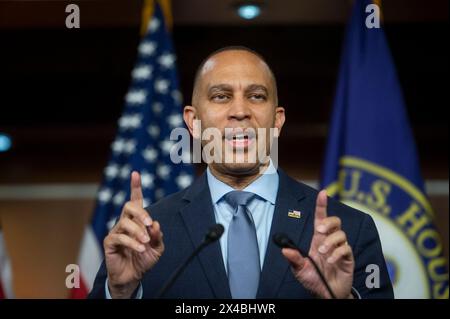
<path fill-rule="evenodd" d="M 148 229 L 148 231 L 147 231 Z M 164 252 L 163 234 L 143 208 L 141 177 L 131 173 L 131 199 L 103 241 L 112 298 L 130 298 L 144 273 Z"/>

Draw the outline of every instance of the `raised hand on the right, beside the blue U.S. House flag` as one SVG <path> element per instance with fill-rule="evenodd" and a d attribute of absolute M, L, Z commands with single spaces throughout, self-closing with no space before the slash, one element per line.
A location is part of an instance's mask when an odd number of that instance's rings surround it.
<path fill-rule="evenodd" d="M 320 298 L 331 298 L 308 258 L 290 248 L 283 248 L 282 254 L 290 262 L 295 277 L 306 289 Z M 336 298 L 351 298 L 355 268 L 353 252 L 347 243 L 347 236 L 341 230 L 341 220 L 335 216 L 327 217 L 325 190 L 317 196 L 314 235 L 308 254 L 322 271 Z"/>

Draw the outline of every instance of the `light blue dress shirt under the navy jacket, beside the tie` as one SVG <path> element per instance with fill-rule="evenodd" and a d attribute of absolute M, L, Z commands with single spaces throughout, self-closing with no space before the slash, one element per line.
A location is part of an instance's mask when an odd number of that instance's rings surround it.
<path fill-rule="evenodd" d="M 269 164 L 266 174 L 262 174 L 250 185 L 245 187 L 243 191 L 256 194 L 252 201 L 247 205 L 247 209 L 250 211 L 255 222 L 256 237 L 258 238 L 259 248 L 259 264 L 261 270 L 264 264 L 264 257 L 266 255 L 267 245 L 269 243 L 270 228 L 272 226 L 273 214 L 275 212 L 275 201 L 278 193 L 279 177 L 278 173 L 273 166 L 272 161 Z M 218 180 L 207 169 L 207 178 L 209 190 L 211 192 L 211 199 L 214 206 L 214 216 L 216 222 L 222 224 L 224 227 L 224 233 L 220 238 L 220 248 L 222 250 L 223 263 L 225 270 L 227 269 L 228 258 L 228 227 L 233 219 L 234 209 L 225 201 L 223 196 L 235 189 Z"/>

